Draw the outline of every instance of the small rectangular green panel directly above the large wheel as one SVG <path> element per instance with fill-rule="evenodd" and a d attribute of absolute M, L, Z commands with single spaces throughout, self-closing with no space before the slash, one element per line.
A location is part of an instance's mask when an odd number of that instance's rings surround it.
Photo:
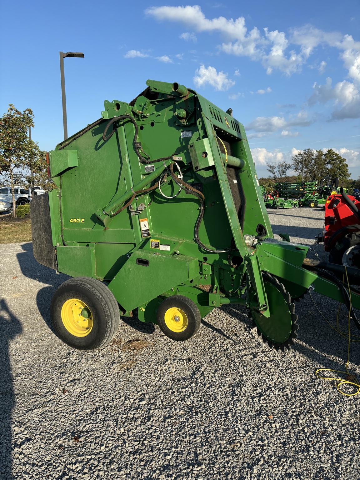
<path fill-rule="evenodd" d="M 94 276 L 95 251 L 92 247 L 56 248 L 59 271 L 70 276 Z"/>

